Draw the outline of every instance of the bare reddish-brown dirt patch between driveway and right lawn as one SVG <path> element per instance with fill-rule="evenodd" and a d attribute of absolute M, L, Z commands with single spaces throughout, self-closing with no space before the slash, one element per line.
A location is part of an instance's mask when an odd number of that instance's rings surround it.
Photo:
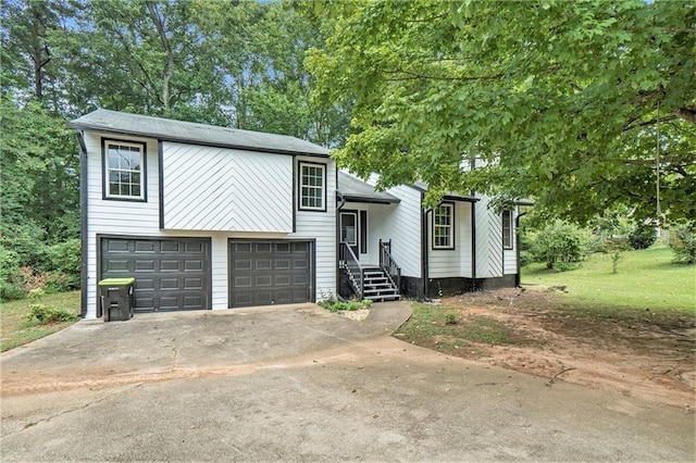
<path fill-rule="evenodd" d="M 599 317 L 547 288 L 501 289 L 446 298 L 460 317 L 490 317 L 519 341 L 471 342 L 448 353 L 518 372 L 696 408 L 696 320 L 669 312 L 616 311 Z M 552 379 L 552 380 L 551 380 Z"/>

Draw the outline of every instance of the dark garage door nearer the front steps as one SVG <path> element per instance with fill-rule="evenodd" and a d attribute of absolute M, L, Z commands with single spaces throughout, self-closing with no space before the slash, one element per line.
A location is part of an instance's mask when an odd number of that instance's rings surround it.
<path fill-rule="evenodd" d="M 229 240 L 229 305 L 314 300 L 314 242 Z"/>

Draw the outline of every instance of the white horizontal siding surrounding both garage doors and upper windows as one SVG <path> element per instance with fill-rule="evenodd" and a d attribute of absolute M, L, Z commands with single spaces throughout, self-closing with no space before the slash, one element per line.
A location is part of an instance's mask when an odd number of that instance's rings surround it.
<path fill-rule="evenodd" d="M 145 141 L 147 143 L 147 202 L 103 200 L 101 139 Z M 335 207 L 336 182 L 335 164 L 331 160 L 327 168 L 327 210 L 323 212 L 297 212 L 297 233 L 234 233 L 203 230 L 162 230 L 159 223 L 159 166 L 157 140 L 110 134 L 85 134 L 87 148 L 87 310 L 86 318 L 97 316 L 97 236 L 113 235 L 123 237 L 187 237 L 211 239 L 211 309 L 228 308 L 228 239 L 315 239 L 316 240 L 316 299 L 322 295 L 335 292 L 336 288 L 336 249 L 335 249 Z M 278 155 L 278 158 L 289 158 Z M 316 162 L 315 159 L 310 159 Z M 296 183 L 293 180 L 293 183 Z M 296 185 L 294 186 L 294 188 Z M 290 191 L 290 198 L 293 193 Z M 290 199 L 291 200 L 291 199 Z"/>

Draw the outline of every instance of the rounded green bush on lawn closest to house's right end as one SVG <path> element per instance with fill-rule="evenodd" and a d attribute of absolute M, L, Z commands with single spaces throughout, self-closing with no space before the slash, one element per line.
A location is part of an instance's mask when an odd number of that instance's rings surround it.
<path fill-rule="evenodd" d="M 579 264 L 587 251 L 587 234 L 560 220 L 539 232 L 533 246 L 535 260 L 545 262 L 547 268 L 571 270 L 572 265 L 566 264 Z"/>

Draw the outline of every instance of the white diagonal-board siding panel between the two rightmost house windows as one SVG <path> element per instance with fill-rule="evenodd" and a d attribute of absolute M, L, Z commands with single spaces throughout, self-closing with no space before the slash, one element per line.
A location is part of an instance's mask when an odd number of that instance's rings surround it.
<path fill-rule="evenodd" d="M 502 218 L 488 209 L 488 198 L 482 197 L 474 209 L 476 214 L 476 278 L 502 276 Z"/>

